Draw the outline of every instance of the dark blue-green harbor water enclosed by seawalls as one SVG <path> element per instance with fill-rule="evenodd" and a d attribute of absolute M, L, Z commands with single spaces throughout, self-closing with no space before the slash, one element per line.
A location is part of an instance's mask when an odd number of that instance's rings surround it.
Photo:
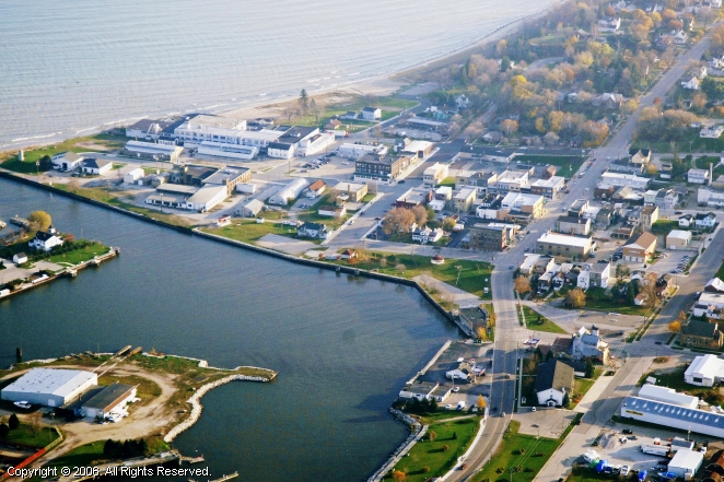
<path fill-rule="evenodd" d="M 279 372 L 203 398 L 175 446 L 214 478 L 359 481 L 408 435 L 387 408 L 454 325 L 414 290 L 301 267 L 0 179 L 0 219 L 43 209 L 119 258 L 0 301 L 0 364 L 126 344 Z M 11 227 L 3 231 L 8 231 Z M 154 479 L 157 480 L 157 479 Z"/>

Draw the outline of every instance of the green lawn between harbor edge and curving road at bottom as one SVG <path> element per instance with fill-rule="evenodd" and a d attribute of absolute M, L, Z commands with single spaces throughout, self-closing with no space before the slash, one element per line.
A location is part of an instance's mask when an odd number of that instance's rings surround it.
<path fill-rule="evenodd" d="M 428 435 L 434 432 L 437 437 L 430 440 L 425 435 L 412 447 L 409 456 L 404 457 L 397 463 L 395 470 L 407 472 L 406 481 L 408 482 L 422 482 L 431 477 L 444 474 L 453 468 L 457 457 L 465 454 L 478 427 L 477 416 L 454 422 L 433 423 L 430 425 Z"/>

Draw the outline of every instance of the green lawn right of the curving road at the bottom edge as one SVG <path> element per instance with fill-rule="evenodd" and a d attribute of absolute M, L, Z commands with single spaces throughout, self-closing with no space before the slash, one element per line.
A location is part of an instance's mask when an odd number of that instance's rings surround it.
<path fill-rule="evenodd" d="M 560 438 L 538 438 L 535 435 L 518 434 L 519 427 L 521 422 L 511 421 L 500 448 L 490 462 L 470 479 L 470 482 L 532 481 L 573 430 L 571 424 Z M 511 469 L 513 469 L 512 477 Z"/>

